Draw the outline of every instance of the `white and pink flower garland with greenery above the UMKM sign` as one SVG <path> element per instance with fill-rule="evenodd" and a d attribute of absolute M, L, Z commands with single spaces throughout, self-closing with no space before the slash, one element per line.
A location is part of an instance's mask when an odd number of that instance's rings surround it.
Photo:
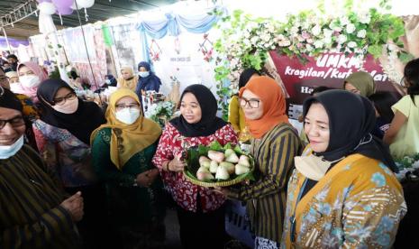
<path fill-rule="evenodd" d="M 403 48 L 403 20 L 382 14 L 376 8 L 355 12 L 352 1 L 345 2 L 344 13 L 336 16 L 324 12 L 323 3 L 316 12 L 303 11 L 287 15 L 286 22 L 269 18 L 252 18 L 237 10 L 217 24 L 223 35 L 214 43 L 215 80 L 223 117 L 228 112 L 226 99 L 238 91 L 238 78 L 245 68 L 262 69 L 269 51 L 277 51 L 302 62 L 305 56 L 323 52 L 353 53 L 362 59 L 367 54 L 378 58 L 384 53 L 402 61 L 412 59 Z M 386 0 L 381 9 L 390 9 Z"/>

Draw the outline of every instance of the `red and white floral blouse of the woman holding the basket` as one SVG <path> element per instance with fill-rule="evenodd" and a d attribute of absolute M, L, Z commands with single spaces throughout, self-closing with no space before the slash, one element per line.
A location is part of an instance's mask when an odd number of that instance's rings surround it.
<path fill-rule="evenodd" d="M 207 145 L 214 141 L 221 144 L 237 143 L 237 134 L 232 129 L 232 125 L 224 125 L 214 134 L 199 137 L 184 137 L 172 124 L 167 124 L 161 134 L 157 152 L 154 155 L 153 163 L 159 168 L 161 178 L 169 189 L 173 199 L 178 205 L 188 211 L 196 212 L 196 196 L 199 193 L 201 197 L 201 207 L 204 212 L 213 211 L 223 205 L 225 198 L 223 195 L 214 192 L 211 189 L 196 186 L 186 180 L 182 172 L 163 171 L 162 162 L 172 160 L 175 155 L 182 152 L 181 140 L 188 143 L 189 146 L 199 144 Z"/>

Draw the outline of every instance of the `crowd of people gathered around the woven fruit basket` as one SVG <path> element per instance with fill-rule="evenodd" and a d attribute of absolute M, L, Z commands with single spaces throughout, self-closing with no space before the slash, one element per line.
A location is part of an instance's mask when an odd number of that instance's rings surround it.
<path fill-rule="evenodd" d="M 161 81 L 147 62 L 138 71 L 105 77 L 117 90 L 104 113 L 36 63 L 12 56 L 0 68 L 1 248 L 165 248 L 172 201 L 183 248 L 221 249 L 231 239 L 229 198 L 246 203 L 254 248 L 395 243 L 411 210 L 394 159 L 419 153 L 419 59 L 405 66 L 399 100 L 363 71 L 341 89 L 315 88 L 303 135 L 278 82 L 255 69 L 241 74 L 229 122 L 217 117 L 211 90 L 195 84 L 161 129 L 141 105 Z M 226 188 L 188 181 L 187 147 L 214 141 L 251 143 L 255 180 Z"/>

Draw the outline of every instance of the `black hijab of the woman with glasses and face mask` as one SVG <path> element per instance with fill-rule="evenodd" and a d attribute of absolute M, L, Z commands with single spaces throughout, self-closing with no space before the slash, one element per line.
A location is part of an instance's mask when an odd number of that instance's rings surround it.
<path fill-rule="evenodd" d="M 59 88 L 68 88 L 68 90 L 74 92 L 62 79 L 44 80 L 38 88 L 36 96 L 40 101 L 41 120 L 47 124 L 68 130 L 80 141 L 90 145 L 90 134 L 101 124 L 106 123 L 102 109 L 93 102 L 84 102 L 78 98 L 78 107 L 74 114 L 60 113 L 50 106 Z"/>

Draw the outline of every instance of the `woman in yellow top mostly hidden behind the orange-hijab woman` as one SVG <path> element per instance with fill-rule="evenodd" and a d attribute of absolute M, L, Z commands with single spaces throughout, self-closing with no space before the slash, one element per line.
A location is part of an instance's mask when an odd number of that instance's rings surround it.
<path fill-rule="evenodd" d="M 250 78 L 260 76 L 260 72 L 256 69 L 244 69 L 239 78 L 239 90 L 246 86 Z M 244 120 L 244 113 L 240 106 L 239 95 L 233 95 L 229 105 L 228 121 L 232 124 L 232 128 L 239 135 L 241 142 L 250 139 L 249 129 Z"/>

